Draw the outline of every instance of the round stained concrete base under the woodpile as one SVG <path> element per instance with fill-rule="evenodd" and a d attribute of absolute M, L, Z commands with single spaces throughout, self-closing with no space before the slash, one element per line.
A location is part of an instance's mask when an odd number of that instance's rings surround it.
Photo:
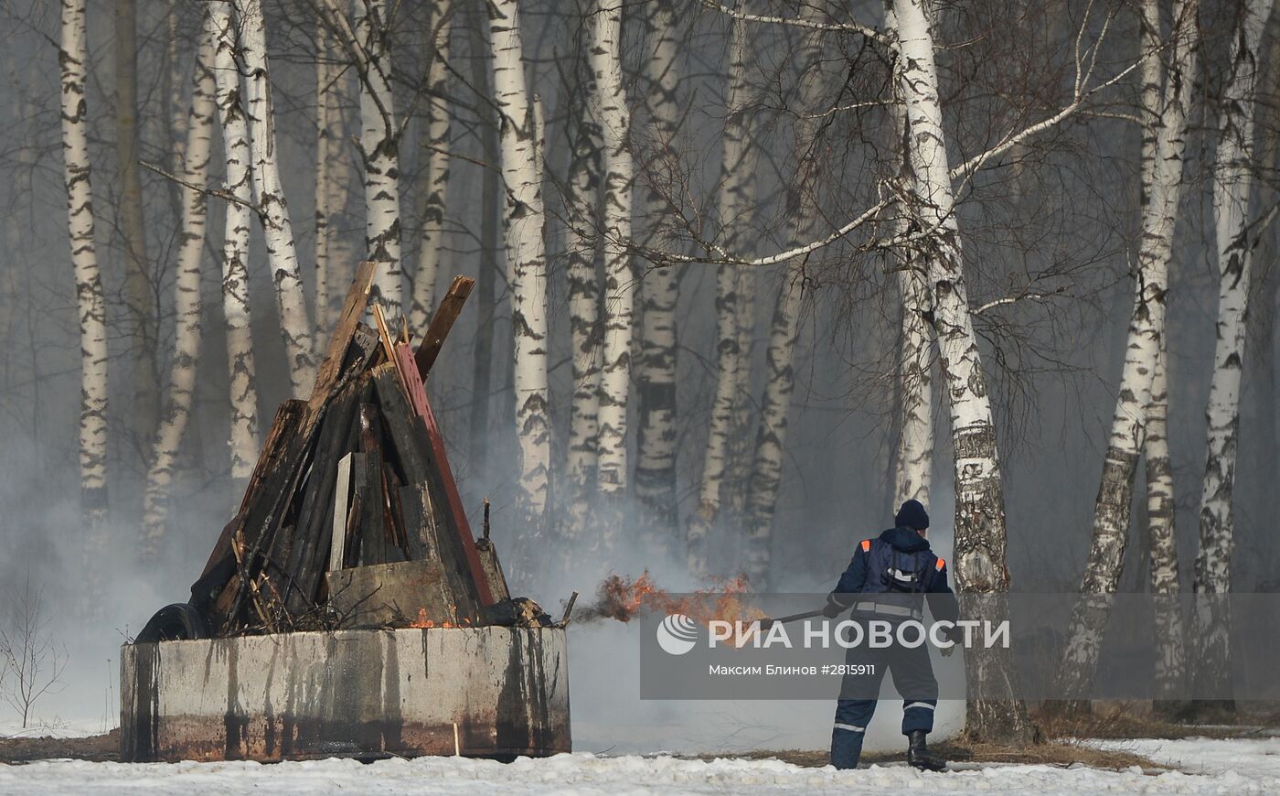
<path fill-rule="evenodd" d="M 124 761 L 570 750 L 562 628 L 353 629 L 120 650 Z"/>

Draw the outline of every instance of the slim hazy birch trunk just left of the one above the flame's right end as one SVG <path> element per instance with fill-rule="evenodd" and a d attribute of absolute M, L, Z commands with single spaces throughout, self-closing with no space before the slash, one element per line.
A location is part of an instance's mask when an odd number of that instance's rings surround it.
<path fill-rule="evenodd" d="M 730 33 L 728 76 L 724 90 L 724 136 L 721 154 L 719 219 L 721 242 L 727 251 L 742 251 L 750 244 L 750 220 L 755 204 L 759 150 L 748 133 L 746 109 L 755 96 L 746 76 L 750 36 L 746 22 L 735 19 Z M 721 265 L 716 274 L 716 395 L 712 422 L 703 454 L 703 473 L 698 509 L 686 528 L 689 572 L 708 574 L 707 536 L 719 519 L 730 469 L 730 441 L 733 437 L 735 409 L 742 390 L 741 308 L 739 292 L 742 272 Z"/>

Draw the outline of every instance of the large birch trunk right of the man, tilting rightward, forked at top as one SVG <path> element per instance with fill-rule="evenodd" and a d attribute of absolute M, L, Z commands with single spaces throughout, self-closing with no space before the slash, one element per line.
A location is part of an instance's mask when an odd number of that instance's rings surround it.
<path fill-rule="evenodd" d="M 1175 5 L 1174 44 L 1167 74 L 1161 79 L 1160 15 L 1155 0 L 1142 6 L 1143 51 L 1143 177 L 1142 241 L 1134 273 L 1133 315 L 1120 388 L 1102 479 L 1093 515 L 1089 558 L 1080 583 L 1080 599 L 1071 614 L 1060 688 L 1069 700 L 1080 699 L 1097 669 L 1098 650 L 1110 615 L 1110 595 L 1119 587 L 1129 535 L 1134 474 L 1143 446 L 1147 408 L 1151 405 L 1156 363 L 1165 335 L 1165 292 L 1181 191 L 1187 117 L 1198 53 L 1198 0 Z M 1153 88 L 1164 83 L 1162 92 Z M 1156 99 L 1158 97 L 1158 99 Z M 1158 103 L 1152 108 L 1151 103 Z"/>

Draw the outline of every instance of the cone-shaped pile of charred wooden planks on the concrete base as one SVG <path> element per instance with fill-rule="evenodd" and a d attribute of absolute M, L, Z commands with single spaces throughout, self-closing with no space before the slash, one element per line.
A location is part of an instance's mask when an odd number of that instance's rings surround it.
<path fill-rule="evenodd" d="M 214 636 L 481 624 L 509 599 L 471 536 L 426 378 L 471 290 L 458 277 L 417 350 L 362 324 L 361 263 L 306 401 L 280 405 L 191 605 Z"/>

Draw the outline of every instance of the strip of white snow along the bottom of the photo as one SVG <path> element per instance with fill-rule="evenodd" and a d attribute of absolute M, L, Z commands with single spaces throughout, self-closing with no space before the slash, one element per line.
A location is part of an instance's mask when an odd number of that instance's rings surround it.
<path fill-rule="evenodd" d="M 0 793 L 1275 793 L 1280 791 L 1280 740 L 1107 741 L 1116 749 L 1189 764 L 1203 774 L 1137 769 L 1102 772 L 1047 765 L 920 773 L 905 767 L 856 772 L 799 768 L 777 760 L 678 760 L 586 752 L 511 764 L 465 758 L 311 763 L 118 764 L 50 760 L 0 765 Z"/>

